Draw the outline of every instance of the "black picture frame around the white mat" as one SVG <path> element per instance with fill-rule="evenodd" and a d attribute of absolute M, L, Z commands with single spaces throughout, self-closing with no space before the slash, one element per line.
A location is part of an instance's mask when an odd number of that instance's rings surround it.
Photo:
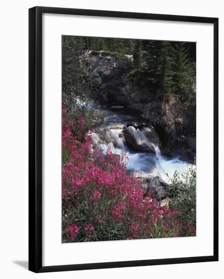
<path fill-rule="evenodd" d="M 129 19 L 212 23 L 214 26 L 214 208 L 213 255 L 200 257 L 42 265 L 42 15 L 64 14 Z M 33 7 L 29 9 L 29 270 L 68 271 L 98 268 L 218 261 L 218 18 L 117 11 Z"/>

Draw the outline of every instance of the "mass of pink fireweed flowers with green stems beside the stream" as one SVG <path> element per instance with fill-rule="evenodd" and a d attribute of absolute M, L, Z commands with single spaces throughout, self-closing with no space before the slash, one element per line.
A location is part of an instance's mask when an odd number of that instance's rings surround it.
<path fill-rule="evenodd" d="M 181 212 L 160 206 L 126 171 L 127 158 L 92 151 L 91 132 L 62 110 L 63 242 L 194 236 Z M 79 134 L 74 135 L 74 125 Z M 76 127 L 77 127 L 76 126 Z M 81 140 L 84 138 L 84 140 Z M 179 221 L 181 220 L 181 221 Z"/>

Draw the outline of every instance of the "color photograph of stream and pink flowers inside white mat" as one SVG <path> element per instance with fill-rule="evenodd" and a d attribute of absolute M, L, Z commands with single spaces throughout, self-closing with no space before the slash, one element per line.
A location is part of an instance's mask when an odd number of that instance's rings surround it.
<path fill-rule="evenodd" d="M 196 236 L 196 43 L 61 43 L 62 243 Z"/>

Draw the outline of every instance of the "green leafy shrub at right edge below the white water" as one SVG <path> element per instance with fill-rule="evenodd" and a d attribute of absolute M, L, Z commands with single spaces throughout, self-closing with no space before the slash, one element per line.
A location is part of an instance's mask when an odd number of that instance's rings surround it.
<path fill-rule="evenodd" d="M 196 226 L 196 167 L 192 166 L 184 175 L 175 171 L 171 179 L 173 195 L 171 208 L 181 211 L 181 219 Z"/>

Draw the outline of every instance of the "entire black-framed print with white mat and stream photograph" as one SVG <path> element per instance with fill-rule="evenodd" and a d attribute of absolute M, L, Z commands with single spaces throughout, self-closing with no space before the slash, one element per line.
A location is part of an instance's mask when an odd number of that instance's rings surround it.
<path fill-rule="evenodd" d="M 218 19 L 29 9 L 29 270 L 218 260 Z"/>

